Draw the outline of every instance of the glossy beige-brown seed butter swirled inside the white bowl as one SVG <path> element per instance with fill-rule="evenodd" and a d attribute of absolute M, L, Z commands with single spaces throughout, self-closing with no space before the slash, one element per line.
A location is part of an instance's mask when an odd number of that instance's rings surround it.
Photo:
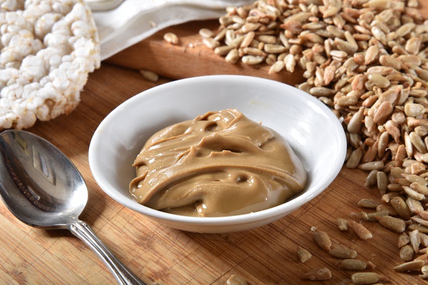
<path fill-rule="evenodd" d="M 232 109 L 157 132 L 133 166 L 129 191 L 138 203 L 186 216 L 268 209 L 306 184 L 306 170 L 289 144 Z"/>

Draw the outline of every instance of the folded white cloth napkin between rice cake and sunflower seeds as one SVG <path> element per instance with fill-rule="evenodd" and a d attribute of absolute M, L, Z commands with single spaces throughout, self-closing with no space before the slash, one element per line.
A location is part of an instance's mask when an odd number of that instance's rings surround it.
<path fill-rule="evenodd" d="M 125 0 L 110 11 L 93 12 L 101 42 L 101 59 L 153 35 L 168 26 L 215 19 L 228 6 L 254 0 Z"/>

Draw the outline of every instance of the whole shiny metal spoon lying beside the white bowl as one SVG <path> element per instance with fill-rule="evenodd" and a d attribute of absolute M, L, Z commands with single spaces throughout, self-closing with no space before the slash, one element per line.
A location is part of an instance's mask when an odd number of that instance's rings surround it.
<path fill-rule="evenodd" d="M 0 196 L 22 222 L 68 229 L 97 253 L 119 284 L 145 284 L 79 220 L 88 189 L 76 166 L 59 149 L 26 131 L 0 134 Z"/>

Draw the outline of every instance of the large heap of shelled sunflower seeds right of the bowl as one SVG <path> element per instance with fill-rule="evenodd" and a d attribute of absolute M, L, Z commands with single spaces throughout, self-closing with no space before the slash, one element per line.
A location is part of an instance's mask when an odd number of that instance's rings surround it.
<path fill-rule="evenodd" d="M 345 166 L 369 171 L 381 201 L 354 215 L 393 232 L 396 271 L 428 278 L 428 21 L 417 0 L 259 0 L 231 7 L 203 43 L 231 63 L 303 70 L 298 87 L 329 106 L 348 141 Z M 345 220 L 339 219 L 343 230 Z M 361 238 L 372 234 L 352 223 Z M 404 269 L 403 269 L 404 268 Z"/>

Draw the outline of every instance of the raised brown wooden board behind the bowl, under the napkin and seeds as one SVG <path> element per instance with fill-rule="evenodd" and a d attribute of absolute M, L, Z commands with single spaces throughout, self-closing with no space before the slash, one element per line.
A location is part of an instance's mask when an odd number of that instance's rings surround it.
<path fill-rule="evenodd" d="M 132 69 L 150 70 L 174 79 L 208 74 L 240 74 L 269 78 L 291 85 L 302 81 L 300 70 L 294 73 L 282 71 L 269 75 L 267 73 L 269 66 L 266 64 L 252 66 L 240 62 L 231 64 L 224 57 L 216 55 L 202 43 L 198 31 L 201 28 L 216 31 L 218 27 L 218 20 L 195 21 L 170 27 L 117 53 L 106 61 Z M 179 44 L 166 43 L 163 39 L 166 32 L 175 33 L 180 40 Z"/>

